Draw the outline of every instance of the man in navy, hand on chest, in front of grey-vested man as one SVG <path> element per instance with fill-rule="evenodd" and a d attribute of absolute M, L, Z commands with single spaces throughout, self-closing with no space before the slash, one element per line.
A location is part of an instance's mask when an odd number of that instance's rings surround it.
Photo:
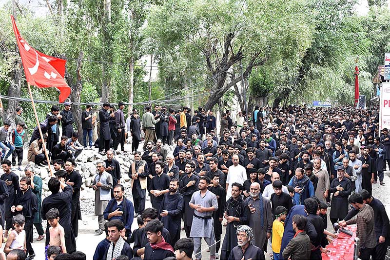
<path fill-rule="evenodd" d="M 123 234 L 126 237 L 131 235 L 131 225 L 134 220 L 134 206 L 133 203 L 124 196 L 125 188 L 121 184 L 114 186 L 114 199 L 110 200 L 103 212 L 105 220 L 120 220 L 124 228 Z"/>

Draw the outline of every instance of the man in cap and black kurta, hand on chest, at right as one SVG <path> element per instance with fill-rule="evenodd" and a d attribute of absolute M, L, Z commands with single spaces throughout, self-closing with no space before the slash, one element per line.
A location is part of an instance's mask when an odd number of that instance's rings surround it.
<path fill-rule="evenodd" d="M 332 180 L 329 193 L 332 194 L 330 218 L 332 224 L 343 220 L 348 214 L 348 196 L 351 195 L 351 181 L 344 177 L 344 166 L 338 166 L 337 178 Z"/>

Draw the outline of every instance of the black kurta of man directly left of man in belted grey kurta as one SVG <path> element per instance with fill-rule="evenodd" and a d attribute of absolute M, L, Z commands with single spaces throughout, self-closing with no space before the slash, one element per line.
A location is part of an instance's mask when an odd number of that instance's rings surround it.
<path fill-rule="evenodd" d="M 195 184 L 187 188 L 188 182 L 191 180 L 195 180 Z M 180 180 L 179 192 L 183 195 L 184 198 L 184 215 L 183 220 L 184 224 L 187 226 L 192 226 L 192 219 L 194 216 L 194 209 L 190 208 L 190 200 L 195 191 L 198 190 L 199 177 L 195 174 L 188 177 L 188 175 L 184 175 Z"/>

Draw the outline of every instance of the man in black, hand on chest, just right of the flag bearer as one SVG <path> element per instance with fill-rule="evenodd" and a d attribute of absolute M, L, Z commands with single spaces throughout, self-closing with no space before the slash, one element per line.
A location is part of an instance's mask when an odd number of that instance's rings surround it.
<path fill-rule="evenodd" d="M 72 227 L 75 238 L 78 236 L 78 220 L 81 220 L 80 209 L 80 189 L 81 189 L 81 175 L 75 169 L 75 161 L 67 160 L 65 162 L 65 171 L 68 174 L 66 177 L 66 184 L 73 187 L 72 194 Z"/>

